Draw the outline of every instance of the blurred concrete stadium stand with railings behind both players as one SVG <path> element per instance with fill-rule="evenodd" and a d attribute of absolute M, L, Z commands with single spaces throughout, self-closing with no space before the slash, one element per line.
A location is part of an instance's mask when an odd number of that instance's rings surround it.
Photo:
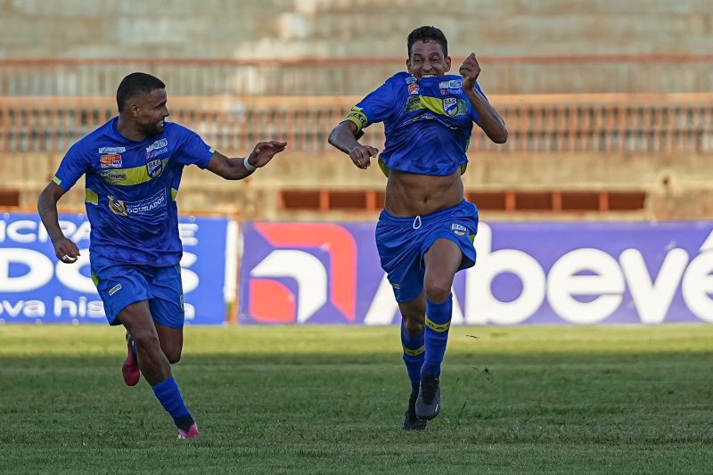
<path fill-rule="evenodd" d="M 479 131 L 471 143 L 465 184 L 488 219 L 713 216 L 708 2 L 461 0 L 428 17 L 423 0 L 207 3 L 221 15 L 187 0 L 0 3 L 0 205 L 33 207 L 70 143 L 114 115 L 119 79 L 144 70 L 167 82 L 173 119 L 221 152 L 291 144 L 242 186 L 187 170 L 182 209 L 372 218 L 381 172 L 358 173 L 326 135 L 430 23 L 454 61 L 476 49 L 510 129 L 504 145 Z M 381 129 L 365 140 L 381 147 Z"/>

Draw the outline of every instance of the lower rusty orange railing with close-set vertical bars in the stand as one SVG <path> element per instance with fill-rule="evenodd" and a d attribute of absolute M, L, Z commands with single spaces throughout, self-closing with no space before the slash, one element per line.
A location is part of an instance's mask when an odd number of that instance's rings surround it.
<path fill-rule="evenodd" d="M 327 136 L 359 97 L 169 97 L 171 120 L 222 152 L 287 140 L 294 152 L 332 151 Z M 713 152 L 713 94 L 492 96 L 510 135 L 476 130 L 471 152 Z M 113 98 L 0 97 L 0 152 L 64 152 L 116 114 Z M 477 129 L 477 127 L 476 127 Z M 381 148 L 381 124 L 365 143 Z"/>

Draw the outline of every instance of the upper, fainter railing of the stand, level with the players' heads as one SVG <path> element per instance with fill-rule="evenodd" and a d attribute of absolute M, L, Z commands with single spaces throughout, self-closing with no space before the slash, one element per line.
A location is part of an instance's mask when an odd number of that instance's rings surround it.
<path fill-rule="evenodd" d="M 453 71 L 462 58 L 453 58 Z M 705 93 L 713 54 L 481 57 L 488 94 Z M 0 60 L 0 96 L 113 96 L 136 70 L 176 95 L 358 95 L 406 69 L 405 58 L 300 60 Z"/>

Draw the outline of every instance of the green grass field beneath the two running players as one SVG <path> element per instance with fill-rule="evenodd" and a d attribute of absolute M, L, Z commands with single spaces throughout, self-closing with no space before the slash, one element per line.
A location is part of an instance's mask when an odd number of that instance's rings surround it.
<path fill-rule="evenodd" d="M 713 471 L 713 325 L 454 328 L 416 433 L 397 327 L 187 328 L 196 440 L 123 384 L 124 348 L 0 325 L 0 472 Z"/>

